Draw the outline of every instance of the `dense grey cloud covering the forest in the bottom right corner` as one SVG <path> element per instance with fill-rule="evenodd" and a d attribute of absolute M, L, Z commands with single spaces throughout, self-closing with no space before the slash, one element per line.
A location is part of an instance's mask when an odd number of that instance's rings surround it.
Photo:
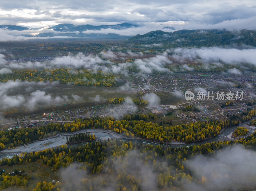
<path fill-rule="evenodd" d="M 255 187 L 255 158 L 256 152 L 242 145 L 230 146 L 213 157 L 198 155 L 185 164 L 198 181 L 204 180 L 201 184 L 187 185 L 187 190 L 240 190 L 247 186 Z"/>

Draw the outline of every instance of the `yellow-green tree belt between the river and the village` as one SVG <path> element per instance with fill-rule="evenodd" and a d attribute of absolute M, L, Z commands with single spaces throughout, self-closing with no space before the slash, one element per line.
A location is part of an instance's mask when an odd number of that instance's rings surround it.
<path fill-rule="evenodd" d="M 256 110 L 248 112 L 247 116 L 242 117 L 242 120 L 249 120 L 255 116 Z M 132 120 L 139 118 L 139 120 Z M 78 119 L 71 123 L 49 123 L 42 127 L 32 127 L 24 129 L 12 129 L 9 131 L 0 131 L 0 149 L 12 148 L 25 143 L 29 143 L 38 139 L 42 139 L 56 133 L 75 132 L 82 129 L 99 128 L 112 130 L 116 133 L 123 134 L 128 137 L 140 137 L 146 140 L 157 141 L 164 143 L 165 141 L 199 141 L 205 138 L 217 136 L 220 130 L 228 125 L 236 125 L 239 120 L 226 121 L 209 121 L 196 122 L 189 124 L 181 124 L 176 126 L 166 125 L 161 126 L 157 123 L 152 123 L 149 118 L 154 118 L 152 114 L 148 116 L 144 114 L 126 115 L 124 120 L 114 120 L 113 117 L 106 118 L 84 118 Z M 142 121 L 145 120 L 145 121 Z"/>

